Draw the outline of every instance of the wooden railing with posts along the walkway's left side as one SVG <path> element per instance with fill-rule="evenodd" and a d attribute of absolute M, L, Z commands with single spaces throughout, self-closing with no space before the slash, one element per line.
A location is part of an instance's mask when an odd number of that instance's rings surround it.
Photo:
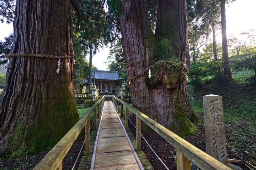
<path fill-rule="evenodd" d="M 47 155 L 34 167 L 33 170 L 62 170 L 62 160 L 75 142 L 81 130 L 85 127 L 85 155 L 90 154 L 90 117 L 94 113 L 96 118 L 102 111 L 105 96 L 98 100 L 85 115 L 71 128 L 68 133 L 47 153 Z M 96 125 L 97 119 L 94 120 Z M 96 127 L 94 126 L 96 129 Z"/>

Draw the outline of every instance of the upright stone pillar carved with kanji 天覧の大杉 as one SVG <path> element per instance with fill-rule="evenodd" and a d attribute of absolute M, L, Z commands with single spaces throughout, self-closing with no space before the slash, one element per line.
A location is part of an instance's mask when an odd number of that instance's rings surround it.
<path fill-rule="evenodd" d="M 222 96 L 203 96 L 206 151 L 223 164 L 228 164 Z"/>

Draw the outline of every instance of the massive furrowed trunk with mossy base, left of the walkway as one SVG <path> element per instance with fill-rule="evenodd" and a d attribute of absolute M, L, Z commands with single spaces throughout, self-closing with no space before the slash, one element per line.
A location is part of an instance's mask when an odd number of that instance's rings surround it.
<path fill-rule="evenodd" d="M 12 54 L 72 56 L 70 2 L 17 0 Z M 0 154 L 45 151 L 78 121 L 73 58 L 11 57 L 0 101 Z"/>

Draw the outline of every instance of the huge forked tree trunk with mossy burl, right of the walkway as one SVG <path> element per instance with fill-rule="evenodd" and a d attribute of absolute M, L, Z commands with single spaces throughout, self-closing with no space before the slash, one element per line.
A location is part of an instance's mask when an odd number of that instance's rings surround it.
<path fill-rule="evenodd" d="M 159 0 L 155 36 L 150 29 L 144 0 L 123 1 L 123 49 L 128 79 L 159 60 L 175 56 L 186 64 L 187 1 Z M 198 132 L 187 94 L 186 68 L 159 63 L 129 84 L 135 108 L 180 135 Z M 144 126 L 144 130 L 146 127 Z"/>

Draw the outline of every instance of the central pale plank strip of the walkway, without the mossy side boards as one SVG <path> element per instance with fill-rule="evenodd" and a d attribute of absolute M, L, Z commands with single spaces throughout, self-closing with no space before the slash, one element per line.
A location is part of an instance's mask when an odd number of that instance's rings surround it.
<path fill-rule="evenodd" d="M 91 169 L 143 169 L 111 101 L 105 101 Z"/>

